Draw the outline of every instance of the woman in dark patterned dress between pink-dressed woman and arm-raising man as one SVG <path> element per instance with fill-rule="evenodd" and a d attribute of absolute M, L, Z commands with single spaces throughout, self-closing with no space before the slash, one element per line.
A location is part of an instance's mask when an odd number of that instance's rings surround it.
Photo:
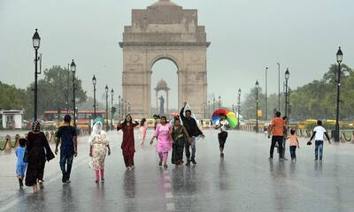
<path fill-rule="evenodd" d="M 176 166 L 181 166 L 183 162 L 183 149 L 187 142 L 190 142 L 189 134 L 186 127 L 181 125 L 179 118 L 174 119 L 172 130 L 173 149 L 172 149 L 172 163 Z"/>

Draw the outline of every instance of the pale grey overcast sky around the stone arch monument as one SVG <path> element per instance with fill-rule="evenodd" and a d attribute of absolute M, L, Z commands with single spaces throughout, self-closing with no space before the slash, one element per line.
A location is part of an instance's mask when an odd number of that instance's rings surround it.
<path fill-rule="evenodd" d="M 32 35 L 41 35 L 42 67 L 66 66 L 75 60 L 83 87 L 92 96 L 107 84 L 121 92 L 124 26 L 131 10 L 157 0 L 1 0 L 0 80 L 27 87 L 34 80 Z M 278 91 L 278 66 L 289 67 L 290 87 L 320 79 L 342 46 L 343 63 L 354 67 L 354 1 L 352 0 L 174 0 L 184 9 L 197 9 L 208 42 L 208 94 L 231 105 L 256 79 L 268 93 Z M 153 67 L 152 85 L 165 79 L 171 87 L 170 105 L 176 107 L 177 74 L 170 61 Z M 40 79 L 43 76 L 40 76 Z M 154 86 L 153 86 L 154 87 Z M 152 93 L 154 94 L 154 93 Z M 100 96 L 100 95 L 98 95 Z M 155 96 L 155 95 L 151 95 Z M 118 97 L 116 98 L 118 99 Z M 152 99 L 153 106 L 155 100 Z"/>

